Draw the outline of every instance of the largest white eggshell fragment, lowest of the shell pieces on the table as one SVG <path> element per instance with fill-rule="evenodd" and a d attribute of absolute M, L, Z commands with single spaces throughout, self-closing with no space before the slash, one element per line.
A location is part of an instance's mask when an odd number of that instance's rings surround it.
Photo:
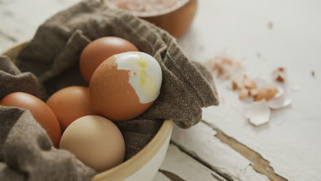
<path fill-rule="evenodd" d="M 252 104 L 243 108 L 244 115 L 253 125 L 262 125 L 270 121 L 271 110 L 267 101 L 262 99 L 261 101 L 255 101 Z"/>

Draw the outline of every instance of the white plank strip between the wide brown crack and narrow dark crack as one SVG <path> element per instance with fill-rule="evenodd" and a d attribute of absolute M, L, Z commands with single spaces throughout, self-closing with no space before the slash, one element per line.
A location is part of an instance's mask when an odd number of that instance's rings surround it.
<path fill-rule="evenodd" d="M 215 137 L 217 132 L 205 123 L 188 130 L 175 128 L 171 141 L 226 180 L 269 180 L 254 171 L 252 162 Z"/>

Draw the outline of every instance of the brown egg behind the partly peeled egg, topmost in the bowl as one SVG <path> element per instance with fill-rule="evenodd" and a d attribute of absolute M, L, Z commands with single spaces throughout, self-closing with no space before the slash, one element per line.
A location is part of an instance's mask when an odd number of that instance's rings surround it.
<path fill-rule="evenodd" d="M 79 68 L 82 77 L 89 84 L 91 76 L 99 64 L 110 56 L 126 51 L 139 51 L 139 49 L 128 40 L 115 36 L 106 36 L 94 40 L 84 48 L 80 56 Z"/>

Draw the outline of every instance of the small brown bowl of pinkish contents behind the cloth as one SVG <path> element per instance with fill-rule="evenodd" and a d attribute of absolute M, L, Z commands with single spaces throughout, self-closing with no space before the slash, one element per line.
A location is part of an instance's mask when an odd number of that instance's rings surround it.
<path fill-rule="evenodd" d="M 175 38 L 187 33 L 196 14 L 197 0 L 108 0 L 116 8 L 165 29 Z"/>

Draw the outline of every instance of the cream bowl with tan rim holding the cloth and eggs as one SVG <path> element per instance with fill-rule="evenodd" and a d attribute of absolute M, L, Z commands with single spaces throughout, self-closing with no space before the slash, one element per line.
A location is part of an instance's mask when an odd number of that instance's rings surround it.
<path fill-rule="evenodd" d="M 15 62 L 25 45 L 27 45 L 27 42 L 11 47 L 1 55 L 8 56 Z M 91 178 L 91 181 L 152 180 L 165 158 L 172 128 L 173 120 L 165 120 L 152 141 L 141 152 L 117 167 L 98 173 Z"/>

